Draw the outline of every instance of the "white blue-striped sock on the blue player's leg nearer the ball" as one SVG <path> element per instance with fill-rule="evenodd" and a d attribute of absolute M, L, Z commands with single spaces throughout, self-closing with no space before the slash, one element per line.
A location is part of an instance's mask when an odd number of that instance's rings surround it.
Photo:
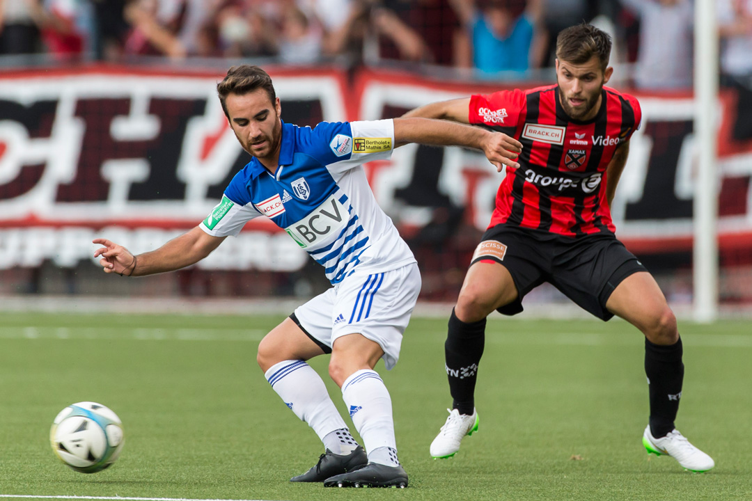
<path fill-rule="evenodd" d="M 295 415 L 314 429 L 321 441 L 332 431 L 347 429 L 318 373 L 302 360 L 274 364 L 264 374 Z M 341 454 L 338 451 L 332 451 Z"/>

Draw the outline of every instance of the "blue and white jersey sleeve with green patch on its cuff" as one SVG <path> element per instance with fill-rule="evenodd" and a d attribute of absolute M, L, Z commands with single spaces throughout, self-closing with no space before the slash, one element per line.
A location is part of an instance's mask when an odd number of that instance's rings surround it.
<path fill-rule="evenodd" d="M 244 190 L 241 189 L 243 179 L 244 171 L 235 174 L 220 203 L 199 224 L 212 237 L 234 237 L 240 233 L 245 223 L 262 215 L 253 207 L 250 197 L 244 195 Z"/>

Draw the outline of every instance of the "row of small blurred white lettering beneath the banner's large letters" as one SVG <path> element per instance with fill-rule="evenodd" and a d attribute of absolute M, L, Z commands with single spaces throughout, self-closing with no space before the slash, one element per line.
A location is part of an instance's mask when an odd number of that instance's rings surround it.
<path fill-rule="evenodd" d="M 156 249 L 183 233 L 182 230 L 129 230 L 117 226 L 96 230 L 74 226 L 0 229 L 0 269 L 38 267 L 45 260 L 59 267 L 75 267 L 87 260 L 99 266 L 99 258 L 92 257 L 99 248 L 91 243 L 94 238 L 106 237 L 140 253 Z M 197 266 L 204 270 L 290 272 L 300 270 L 307 261 L 308 255 L 284 233 L 245 231 L 227 238 Z"/>

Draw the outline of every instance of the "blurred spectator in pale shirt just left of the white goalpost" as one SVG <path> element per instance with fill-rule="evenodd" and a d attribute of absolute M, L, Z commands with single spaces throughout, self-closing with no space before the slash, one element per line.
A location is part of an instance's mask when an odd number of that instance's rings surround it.
<path fill-rule="evenodd" d="M 621 0 L 640 20 L 635 86 L 691 89 L 694 6 L 690 0 Z"/>

